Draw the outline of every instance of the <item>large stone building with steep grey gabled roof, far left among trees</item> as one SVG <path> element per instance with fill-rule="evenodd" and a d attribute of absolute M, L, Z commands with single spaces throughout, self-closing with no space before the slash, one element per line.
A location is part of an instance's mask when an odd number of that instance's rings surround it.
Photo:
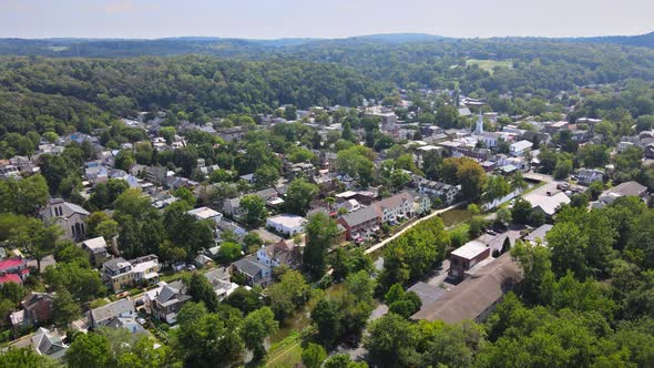
<path fill-rule="evenodd" d="M 89 215 L 89 211 L 62 198 L 48 201 L 48 205 L 41 211 L 41 217 L 45 222 L 60 225 L 63 228 L 64 237 L 72 242 L 79 242 L 86 235 Z"/>

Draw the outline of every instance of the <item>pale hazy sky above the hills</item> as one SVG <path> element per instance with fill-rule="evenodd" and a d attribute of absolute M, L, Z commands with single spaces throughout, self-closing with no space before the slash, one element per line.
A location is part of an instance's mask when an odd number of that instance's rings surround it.
<path fill-rule="evenodd" d="M 0 0 L 0 38 L 642 34 L 653 0 Z"/>

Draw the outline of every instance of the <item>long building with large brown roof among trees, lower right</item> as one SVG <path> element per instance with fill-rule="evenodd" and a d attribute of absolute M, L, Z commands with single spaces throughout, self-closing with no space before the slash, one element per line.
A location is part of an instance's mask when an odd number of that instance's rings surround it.
<path fill-rule="evenodd" d="M 522 282 L 520 266 L 505 253 L 471 274 L 451 290 L 423 304 L 411 319 L 442 320 L 457 324 L 464 319 L 483 323 L 504 295 Z"/>

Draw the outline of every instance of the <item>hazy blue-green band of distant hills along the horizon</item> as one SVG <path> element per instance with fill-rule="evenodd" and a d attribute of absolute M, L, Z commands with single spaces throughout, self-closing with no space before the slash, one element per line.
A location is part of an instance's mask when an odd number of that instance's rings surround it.
<path fill-rule="evenodd" d="M 457 39 L 426 33 L 387 33 L 368 34 L 343 39 L 290 38 L 276 40 L 229 39 L 217 37 L 180 37 L 165 39 L 0 39 L 0 55 L 39 55 L 52 58 L 130 58 L 154 55 L 207 54 L 223 58 L 242 58 L 260 60 L 278 55 L 298 55 L 313 52 L 305 57 L 313 61 L 336 61 L 345 55 L 341 49 L 361 48 L 391 50 L 397 48 L 415 48 L 419 45 L 435 47 L 437 53 L 448 44 L 464 44 L 461 50 L 471 58 L 478 58 L 474 50 L 479 45 L 494 43 L 500 49 L 494 52 L 500 57 L 510 43 L 568 44 L 603 43 L 629 47 L 646 47 L 654 49 L 654 32 L 642 35 L 614 35 L 592 38 L 492 38 L 492 39 Z M 339 51 L 340 50 L 340 51 Z M 493 58 L 486 55 L 484 58 Z M 484 59 L 481 58 L 481 59 Z M 501 58 L 500 58 L 501 59 Z M 507 55 L 503 59 L 508 59 Z"/>

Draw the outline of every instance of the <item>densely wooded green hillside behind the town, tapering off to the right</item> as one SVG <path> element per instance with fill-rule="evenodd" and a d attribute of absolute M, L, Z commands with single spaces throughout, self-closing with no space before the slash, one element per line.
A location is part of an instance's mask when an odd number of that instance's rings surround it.
<path fill-rule="evenodd" d="M 187 55 L 120 60 L 3 58 L 0 91 L 6 92 L 0 100 L 0 116 L 9 123 L 38 115 L 71 120 L 70 110 L 96 115 L 98 111 L 89 111 L 84 102 L 120 116 L 159 109 L 190 114 L 197 110 L 254 114 L 269 113 L 280 104 L 357 105 L 364 96 L 380 96 L 385 89 L 335 64 Z M 22 101 L 27 99 L 31 101 Z M 41 99 L 45 101 L 37 101 Z M 50 104 L 69 112 L 51 111 L 55 108 Z"/>

